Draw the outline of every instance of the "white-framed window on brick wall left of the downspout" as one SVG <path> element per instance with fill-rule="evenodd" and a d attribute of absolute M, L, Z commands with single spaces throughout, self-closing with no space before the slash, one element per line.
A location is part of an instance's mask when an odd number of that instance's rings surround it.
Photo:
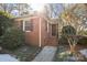
<path fill-rule="evenodd" d="M 25 32 L 33 31 L 33 22 L 32 21 L 23 21 L 23 31 L 25 31 Z"/>

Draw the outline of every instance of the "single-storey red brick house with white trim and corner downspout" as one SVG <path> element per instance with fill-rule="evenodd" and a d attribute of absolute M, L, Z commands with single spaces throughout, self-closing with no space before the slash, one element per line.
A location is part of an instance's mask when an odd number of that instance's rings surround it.
<path fill-rule="evenodd" d="M 57 21 L 46 20 L 41 15 L 25 15 L 14 18 L 15 25 L 25 32 L 25 43 L 36 46 L 53 45 L 57 43 Z"/>

